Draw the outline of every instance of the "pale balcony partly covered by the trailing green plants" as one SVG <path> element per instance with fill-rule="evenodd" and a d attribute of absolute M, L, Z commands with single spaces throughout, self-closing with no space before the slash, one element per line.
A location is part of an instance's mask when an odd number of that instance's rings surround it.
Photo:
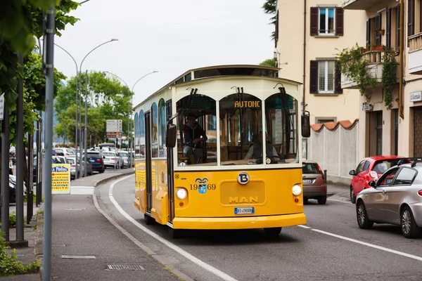
<path fill-rule="evenodd" d="M 376 86 L 382 86 L 382 77 L 383 77 L 383 55 L 384 51 L 367 51 L 361 55 L 362 60 L 366 60 L 368 64 L 366 65 L 368 73 L 371 77 L 376 79 Z M 396 61 L 398 56 L 396 56 Z M 399 67 L 397 67 L 397 82 L 399 81 Z M 342 89 L 359 89 L 354 81 L 351 81 L 349 77 L 346 77 L 344 74 L 341 74 L 341 88 Z"/>

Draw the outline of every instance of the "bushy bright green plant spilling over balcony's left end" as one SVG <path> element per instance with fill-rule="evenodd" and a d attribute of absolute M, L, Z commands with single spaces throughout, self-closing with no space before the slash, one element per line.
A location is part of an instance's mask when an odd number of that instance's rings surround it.
<path fill-rule="evenodd" d="M 362 55 L 363 47 L 356 44 L 352 48 L 345 48 L 336 54 L 340 63 L 341 73 L 354 82 L 366 102 L 371 100 L 371 88 L 376 86 L 376 79 L 371 76 L 368 70 L 369 58 Z M 338 50 L 338 49 L 337 49 Z"/>

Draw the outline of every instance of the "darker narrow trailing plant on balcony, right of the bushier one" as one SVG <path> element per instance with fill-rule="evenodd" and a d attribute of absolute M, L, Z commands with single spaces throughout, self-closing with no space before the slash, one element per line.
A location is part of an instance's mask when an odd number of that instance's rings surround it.
<path fill-rule="evenodd" d="M 392 92 L 397 84 L 397 60 L 395 59 L 396 53 L 391 48 L 385 48 L 383 54 L 383 76 L 381 81 L 384 89 L 384 105 L 387 110 L 391 110 L 393 96 Z"/>

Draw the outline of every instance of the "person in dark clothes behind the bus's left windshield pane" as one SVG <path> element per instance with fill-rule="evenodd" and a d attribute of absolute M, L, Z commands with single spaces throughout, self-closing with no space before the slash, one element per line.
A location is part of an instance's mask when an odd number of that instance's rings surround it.
<path fill-rule="evenodd" d="M 203 157 L 201 143 L 203 140 L 207 141 L 207 135 L 198 122 L 196 122 L 196 115 L 193 115 L 192 113 L 188 115 L 188 122 L 183 125 L 182 131 L 184 133 L 185 141 L 183 154 L 186 157 L 193 154 L 193 161 L 195 164 L 198 164 Z"/>

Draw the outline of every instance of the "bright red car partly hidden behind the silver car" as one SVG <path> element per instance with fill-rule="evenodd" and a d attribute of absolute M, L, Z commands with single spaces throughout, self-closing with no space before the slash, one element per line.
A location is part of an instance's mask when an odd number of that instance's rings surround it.
<path fill-rule="evenodd" d="M 356 170 L 349 172 L 350 176 L 353 176 L 352 181 L 350 181 L 350 201 L 356 203 L 356 196 L 362 190 L 366 188 L 371 188 L 368 183 L 373 181 L 372 176 L 370 175 L 371 171 L 376 171 L 378 178 L 385 171 L 390 169 L 390 167 L 397 165 L 399 162 L 398 158 L 403 158 L 402 156 L 372 156 L 366 157 L 362 162 L 357 165 Z M 404 160 L 404 162 L 409 162 Z M 392 178 L 387 179 L 387 181 L 392 181 Z"/>

